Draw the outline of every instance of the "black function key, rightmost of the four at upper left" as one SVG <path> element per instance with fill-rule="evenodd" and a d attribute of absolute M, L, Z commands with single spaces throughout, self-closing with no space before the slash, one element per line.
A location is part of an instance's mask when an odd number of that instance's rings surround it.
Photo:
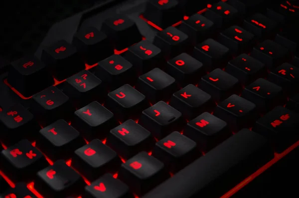
<path fill-rule="evenodd" d="M 106 33 L 117 50 L 123 50 L 142 40 L 136 23 L 121 14 L 115 14 L 106 19 L 102 25 L 102 31 Z"/>

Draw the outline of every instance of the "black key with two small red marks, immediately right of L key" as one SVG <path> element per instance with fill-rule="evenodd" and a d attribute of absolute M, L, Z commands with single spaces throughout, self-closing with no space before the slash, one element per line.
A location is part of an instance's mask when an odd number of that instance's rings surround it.
<path fill-rule="evenodd" d="M 243 85 L 267 75 L 265 64 L 247 54 L 241 54 L 228 62 L 225 71 L 238 78 Z"/>

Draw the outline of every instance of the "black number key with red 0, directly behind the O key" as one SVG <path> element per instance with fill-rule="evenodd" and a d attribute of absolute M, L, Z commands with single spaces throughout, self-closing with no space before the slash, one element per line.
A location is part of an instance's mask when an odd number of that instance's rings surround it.
<path fill-rule="evenodd" d="M 153 44 L 162 50 L 166 60 L 189 50 L 188 36 L 172 26 L 158 32 Z"/>

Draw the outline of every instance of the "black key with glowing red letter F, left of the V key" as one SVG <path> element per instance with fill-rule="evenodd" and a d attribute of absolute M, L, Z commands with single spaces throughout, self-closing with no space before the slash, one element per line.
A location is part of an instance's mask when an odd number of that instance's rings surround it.
<path fill-rule="evenodd" d="M 44 197 L 65 198 L 82 195 L 84 181 L 76 171 L 67 166 L 64 160 L 39 171 L 34 189 Z"/>

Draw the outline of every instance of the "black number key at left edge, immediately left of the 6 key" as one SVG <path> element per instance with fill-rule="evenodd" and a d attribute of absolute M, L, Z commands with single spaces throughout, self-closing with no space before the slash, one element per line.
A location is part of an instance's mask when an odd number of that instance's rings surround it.
<path fill-rule="evenodd" d="M 28 110 L 15 104 L 0 112 L 0 129 L 1 142 L 9 146 L 23 138 L 33 140 L 40 127 Z"/>

